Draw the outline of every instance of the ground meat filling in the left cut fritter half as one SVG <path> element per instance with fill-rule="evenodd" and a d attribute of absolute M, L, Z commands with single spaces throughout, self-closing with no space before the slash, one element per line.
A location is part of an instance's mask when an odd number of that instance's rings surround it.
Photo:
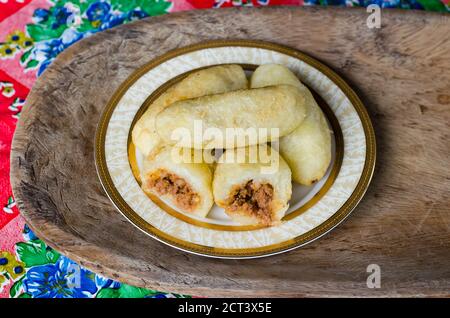
<path fill-rule="evenodd" d="M 200 197 L 192 187 L 179 176 L 166 170 L 160 170 L 147 179 L 148 188 L 159 195 L 170 195 L 180 209 L 194 210 L 200 203 Z"/>

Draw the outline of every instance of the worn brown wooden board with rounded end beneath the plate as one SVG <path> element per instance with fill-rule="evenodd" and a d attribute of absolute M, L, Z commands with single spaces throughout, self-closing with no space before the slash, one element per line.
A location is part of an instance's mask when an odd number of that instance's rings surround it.
<path fill-rule="evenodd" d="M 36 82 L 11 154 L 19 209 L 49 245 L 133 285 L 203 296 L 449 296 L 450 16 L 383 10 L 260 8 L 149 18 L 83 40 Z M 102 190 L 94 132 L 137 67 L 209 39 L 297 48 L 343 76 L 377 136 L 372 184 L 352 216 L 303 248 L 254 260 L 194 256 L 130 224 Z M 366 286 L 369 264 L 381 288 Z"/>

